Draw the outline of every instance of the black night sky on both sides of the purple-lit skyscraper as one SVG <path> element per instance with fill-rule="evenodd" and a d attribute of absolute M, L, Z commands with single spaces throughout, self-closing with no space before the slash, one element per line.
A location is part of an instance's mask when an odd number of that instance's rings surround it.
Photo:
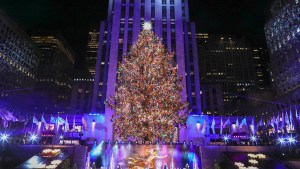
<path fill-rule="evenodd" d="M 236 34 L 252 45 L 264 45 L 264 13 L 269 1 L 190 0 L 190 20 L 196 22 L 198 31 Z M 29 34 L 60 31 L 74 48 L 78 63 L 84 58 L 87 32 L 106 19 L 107 5 L 108 0 L 0 1 L 0 8 Z"/>

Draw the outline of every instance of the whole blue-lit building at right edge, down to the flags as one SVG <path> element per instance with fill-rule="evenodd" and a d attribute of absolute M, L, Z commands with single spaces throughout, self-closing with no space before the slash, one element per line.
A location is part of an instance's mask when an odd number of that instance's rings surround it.
<path fill-rule="evenodd" d="M 272 102 L 259 107 L 256 114 L 265 118 L 282 117 L 297 121 L 300 110 L 300 1 L 276 0 L 270 6 L 265 35 L 270 54 L 270 71 L 276 90 Z M 295 130 L 299 133 L 299 125 Z"/>

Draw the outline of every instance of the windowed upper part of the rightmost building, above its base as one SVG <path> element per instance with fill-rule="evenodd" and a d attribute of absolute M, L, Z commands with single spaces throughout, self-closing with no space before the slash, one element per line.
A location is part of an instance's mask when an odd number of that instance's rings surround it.
<path fill-rule="evenodd" d="M 278 95 L 300 87 L 300 3 L 298 0 L 275 1 L 265 34 L 271 69 Z"/>

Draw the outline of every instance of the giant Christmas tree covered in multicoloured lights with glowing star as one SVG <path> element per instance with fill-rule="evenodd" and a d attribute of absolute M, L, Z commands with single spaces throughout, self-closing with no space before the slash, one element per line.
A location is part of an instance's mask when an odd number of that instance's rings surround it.
<path fill-rule="evenodd" d="M 188 103 L 180 101 L 182 77 L 173 56 L 145 23 L 118 65 L 116 94 L 107 101 L 120 139 L 172 141 L 175 127 L 185 124 Z"/>

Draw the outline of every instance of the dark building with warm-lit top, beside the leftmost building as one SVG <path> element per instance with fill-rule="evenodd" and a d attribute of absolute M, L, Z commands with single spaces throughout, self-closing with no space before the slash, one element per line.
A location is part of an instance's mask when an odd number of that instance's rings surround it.
<path fill-rule="evenodd" d="M 74 52 L 60 34 L 34 35 L 42 55 L 36 77 L 36 110 L 64 112 L 70 103 Z"/>

